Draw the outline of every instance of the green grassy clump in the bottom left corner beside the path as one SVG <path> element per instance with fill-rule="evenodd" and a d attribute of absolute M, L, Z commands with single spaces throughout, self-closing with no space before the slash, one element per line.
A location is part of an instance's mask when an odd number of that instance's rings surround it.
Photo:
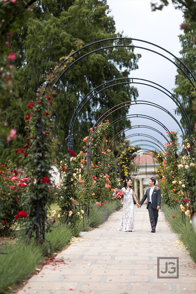
<path fill-rule="evenodd" d="M 0 292 L 6 293 L 11 285 L 25 279 L 42 261 L 42 249 L 35 242 L 22 240 L 15 245 L 4 245 L 1 254 Z M 14 252 L 13 252 L 14 251 Z"/>

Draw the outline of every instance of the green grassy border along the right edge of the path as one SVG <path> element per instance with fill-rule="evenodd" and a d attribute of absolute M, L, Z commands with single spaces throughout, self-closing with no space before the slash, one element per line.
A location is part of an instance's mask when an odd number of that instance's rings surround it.
<path fill-rule="evenodd" d="M 183 213 L 178 205 L 168 207 L 161 205 L 167 222 L 170 223 L 171 229 L 178 234 L 179 239 L 187 247 L 191 258 L 196 262 L 196 222 L 191 225 L 188 216 L 183 216 Z M 192 221 L 191 221 L 192 222 Z"/>

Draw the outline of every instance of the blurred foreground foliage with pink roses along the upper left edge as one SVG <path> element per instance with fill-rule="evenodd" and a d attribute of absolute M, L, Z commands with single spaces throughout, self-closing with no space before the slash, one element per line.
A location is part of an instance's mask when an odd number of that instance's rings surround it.
<path fill-rule="evenodd" d="M 21 33 L 21 28 L 27 21 L 28 16 L 32 11 L 32 9 L 29 7 L 29 2 L 33 4 L 35 1 L 0 1 L 0 153 L 4 151 L 2 146 L 9 146 L 7 142 L 9 142 L 11 139 L 14 139 L 15 137 L 10 130 L 10 126 L 13 128 L 13 125 L 8 124 L 8 113 L 5 111 L 5 109 L 9 109 L 9 107 L 18 109 L 19 105 L 21 104 L 21 99 L 18 99 L 18 91 L 16 89 L 13 91 L 15 84 L 14 72 L 16 70 L 16 54 L 13 47 L 11 46 L 11 42 L 13 33 Z M 6 152 L 4 153 L 2 160 L 4 162 L 8 162 L 8 159 L 10 158 L 7 155 L 7 159 L 5 160 L 5 154 Z"/>

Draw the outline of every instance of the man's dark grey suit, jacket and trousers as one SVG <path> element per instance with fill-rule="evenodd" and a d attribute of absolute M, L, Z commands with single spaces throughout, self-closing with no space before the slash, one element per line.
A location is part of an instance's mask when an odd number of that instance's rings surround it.
<path fill-rule="evenodd" d="M 161 192 L 160 189 L 154 188 L 152 196 L 151 196 L 151 201 L 149 202 L 149 197 L 150 197 L 150 189 L 146 190 L 146 193 L 144 194 L 144 197 L 140 201 L 140 205 L 144 203 L 144 201 L 147 198 L 147 205 L 146 208 L 148 209 L 149 213 L 149 218 L 150 218 L 150 223 L 151 223 L 151 228 L 152 230 L 155 230 L 157 221 L 158 221 L 158 210 L 157 206 L 161 207 Z"/>

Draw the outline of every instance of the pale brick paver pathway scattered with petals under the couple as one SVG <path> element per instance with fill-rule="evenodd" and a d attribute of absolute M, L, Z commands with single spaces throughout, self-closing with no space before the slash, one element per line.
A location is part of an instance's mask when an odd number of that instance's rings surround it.
<path fill-rule="evenodd" d="M 195 294 L 195 264 L 163 213 L 156 233 L 151 233 L 145 205 L 135 205 L 135 232 L 117 231 L 121 215 L 122 209 L 99 228 L 82 232 L 18 294 Z M 157 257 L 179 257 L 179 278 L 158 279 Z"/>

